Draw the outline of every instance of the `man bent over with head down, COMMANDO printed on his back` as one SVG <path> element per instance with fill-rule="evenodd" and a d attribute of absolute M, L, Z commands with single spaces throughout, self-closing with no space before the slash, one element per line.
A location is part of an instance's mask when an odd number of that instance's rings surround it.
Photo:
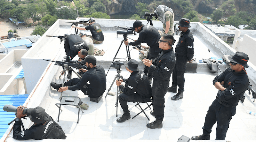
<path fill-rule="evenodd" d="M 79 35 L 70 34 L 65 38 L 64 49 L 67 55 L 66 62 L 72 60 L 76 55 L 79 57 L 78 61 L 81 62 L 87 56 L 89 47 Z M 70 74 L 68 79 L 71 79 L 72 71 L 68 69 L 68 72 Z M 63 74 L 64 72 L 61 73 L 61 75 Z"/>

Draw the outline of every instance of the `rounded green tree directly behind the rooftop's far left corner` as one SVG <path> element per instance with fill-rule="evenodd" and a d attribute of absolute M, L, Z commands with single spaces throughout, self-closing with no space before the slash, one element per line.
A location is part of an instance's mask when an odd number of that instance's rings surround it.
<path fill-rule="evenodd" d="M 56 16 L 60 19 L 75 20 L 77 17 L 77 13 L 76 10 L 74 10 L 73 8 L 63 7 L 56 11 Z"/>

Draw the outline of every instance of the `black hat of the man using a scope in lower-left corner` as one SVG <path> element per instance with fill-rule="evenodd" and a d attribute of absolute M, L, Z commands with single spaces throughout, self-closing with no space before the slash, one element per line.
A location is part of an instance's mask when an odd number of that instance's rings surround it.
<path fill-rule="evenodd" d="M 47 119 L 47 113 L 42 107 L 28 108 L 27 113 L 30 120 L 36 124 L 45 123 L 45 120 Z"/>

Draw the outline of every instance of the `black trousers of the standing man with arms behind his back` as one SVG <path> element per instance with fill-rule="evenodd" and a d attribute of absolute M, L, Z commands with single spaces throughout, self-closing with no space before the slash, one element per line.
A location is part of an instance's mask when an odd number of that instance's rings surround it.
<path fill-rule="evenodd" d="M 172 72 L 172 86 L 179 86 L 179 92 L 184 92 L 187 58 L 185 56 L 176 56 L 176 64 Z"/>

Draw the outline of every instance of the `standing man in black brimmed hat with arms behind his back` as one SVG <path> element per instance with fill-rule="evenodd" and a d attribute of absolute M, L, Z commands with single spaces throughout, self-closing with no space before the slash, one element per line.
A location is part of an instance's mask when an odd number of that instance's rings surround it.
<path fill-rule="evenodd" d="M 175 48 L 176 64 L 172 73 L 172 86 L 168 88 L 168 91 L 177 93 L 177 86 L 179 86 L 179 90 L 176 95 L 172 96 L 172 100 L 183 98 L 186 65 L 194 56 L 194 38 L 188 29 L 189 23 L 190 20 L 186 18 L 181 18 L 180 22 L 177 23 L 181 33 Z"/>

